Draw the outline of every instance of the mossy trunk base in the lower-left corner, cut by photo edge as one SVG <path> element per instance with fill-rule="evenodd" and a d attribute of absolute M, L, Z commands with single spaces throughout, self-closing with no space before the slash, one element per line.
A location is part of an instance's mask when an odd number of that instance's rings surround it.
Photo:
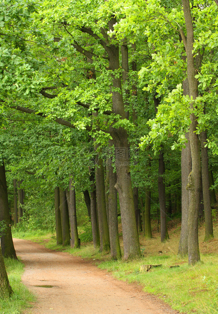
<path fill-rule="evenodd" d="M 0 247 L 0 299 L 4 300 L 12 296 L 13 291 L 9 284 L 8 275 L 6 273 L 5 264 L 2 256 L 2 250 Z"/>

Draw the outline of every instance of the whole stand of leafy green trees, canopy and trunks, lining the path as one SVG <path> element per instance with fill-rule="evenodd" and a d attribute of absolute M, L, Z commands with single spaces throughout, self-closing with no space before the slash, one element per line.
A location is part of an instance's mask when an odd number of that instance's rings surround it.
<path fill-rule="evenodd" d="M 208 148 L 217 154 L 216 4 L 6 0 L 1 21 L 4 256 L 16 258 L 5 162 L 11 182 L 27 185 L 25 203 L 33 180 L 55 191 L 58 243 L 80 245 L 76 191 L 84 193 L 94 247 L 110 249 L 113 259 L 121 257 L 120 210 L 125 261 L 141 257 L 139 208 L 147 238 L 151 205 L 159 209 L 166 241 L 167 212 L 177 203 L 179 255 L 198 262 L 202 199 L 205 240 L 213 237 Z M 21 187 L 19 218 L 26 206 Z"/>

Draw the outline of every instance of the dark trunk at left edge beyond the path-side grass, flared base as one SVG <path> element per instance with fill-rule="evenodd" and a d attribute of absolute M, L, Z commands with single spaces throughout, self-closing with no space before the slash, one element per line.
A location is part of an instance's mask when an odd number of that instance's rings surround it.
<path fill-rule="evenodd" d="M 17 259 L 11 234 L 11 217 L 4 162 L 0 166 L 0 221 L 2 220 L 4 220 L 6 225 L 5 233 L 1 236 L 2 254 L 4 257 Z"/>

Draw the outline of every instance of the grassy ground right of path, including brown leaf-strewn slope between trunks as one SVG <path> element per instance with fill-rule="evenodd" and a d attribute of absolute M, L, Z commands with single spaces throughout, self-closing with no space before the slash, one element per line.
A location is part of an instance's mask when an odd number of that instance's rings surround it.
<path fill-rule="evenodd" d="M 199 226 L 201 261 L 194 267 L 188 266 L 187 258 L 180 259 L 177 256 L 180 225 L 180 219 L 169 222 L 170 240 L 161 243 L 156 222 L 153 222 L 152 239 L 145 240 L 142 233 L 139 235 L 144 257 L 139 261 L 129 263 L 111 261 L 108 252 L 100 253 L 94 250 L 92 243 L 82 243 L 80 249 L 57 246 L 55 236 L 49 233 L 38 237 L 34 232 L 27 232 L 25 239 L 38 241 L 49 249 L 91 259 L 99 268 L 108 270 L 115 278 L 139 284 L 144 291 L 157 295 L 180 312 L 218 314 L 218 220 L 214 221 L 214 239 L 209 242 L 203 241 L 204 225 Z M 119 225 L 119 232 L 122 233 L 121 225 Z M 21 237 L 20 234 L 17 234 L 17 237 Z M 122 237 L 120 237 L 120 244 L 122 250 Z M 139 268 L 142 264 L 162 264 L 163 266 L 141 273 Z M 169 268 L 172 265 L 179 265 L 179 267 Z"/>

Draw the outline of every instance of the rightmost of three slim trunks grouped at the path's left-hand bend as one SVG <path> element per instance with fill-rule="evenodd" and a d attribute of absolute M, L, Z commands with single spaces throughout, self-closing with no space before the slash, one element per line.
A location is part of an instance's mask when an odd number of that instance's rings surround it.
<path fill-rule="evenodd" d="M 69 206 L 69 216 L 70 216 L 70 227 L 71 227 L 71 247 L 80 247 L 78 229 L 77 229 L 77 219 L 76 219 L 76 192 L 74 189 L 73 175 L 70 174 L 69 182 L 69 196 L 70 196 L 70 206 Z"/>

